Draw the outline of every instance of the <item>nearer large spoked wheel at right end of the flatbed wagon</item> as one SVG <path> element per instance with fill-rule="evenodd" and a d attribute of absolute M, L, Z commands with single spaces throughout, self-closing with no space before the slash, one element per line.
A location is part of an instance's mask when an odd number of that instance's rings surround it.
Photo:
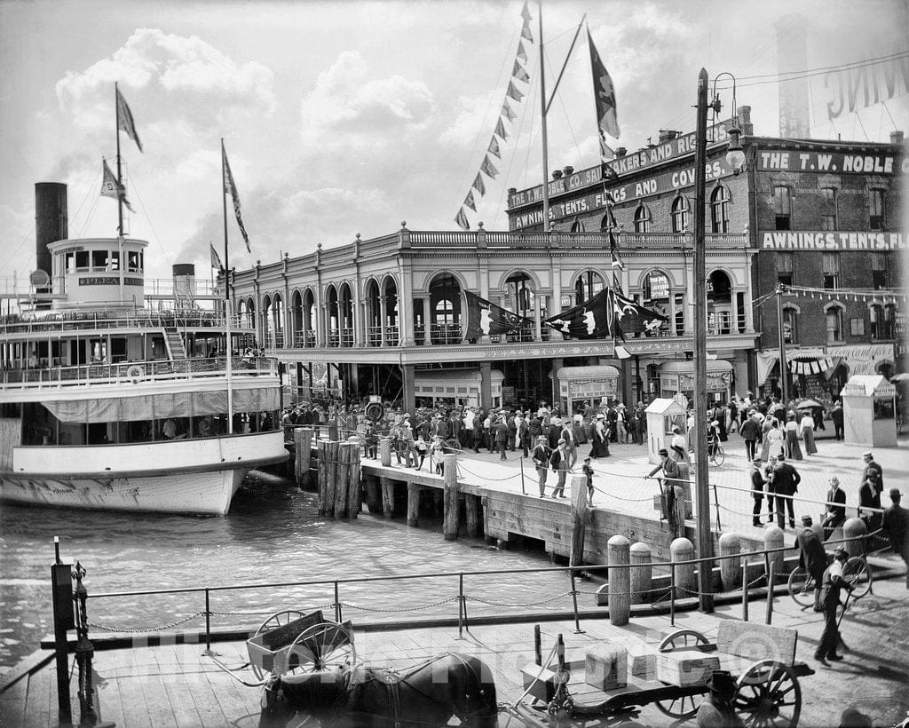
<path fill-rule="evenodd" d="M 802 689 L 792 669 L 776 660 L 754 663 L 738 679 L 735 712 L 747 728 L 795 728 L 802 713 Z"/>

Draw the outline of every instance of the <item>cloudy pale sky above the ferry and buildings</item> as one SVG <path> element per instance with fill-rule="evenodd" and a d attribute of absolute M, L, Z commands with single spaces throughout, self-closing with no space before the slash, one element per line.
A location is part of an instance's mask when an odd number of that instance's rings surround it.
<path fill-rule="evenodd" d="M 21 286 L 35 268 L 36 182 L 68 185 L 70 237 L 115 236 L 115 200 L 99 195 L 102 157 L 115 164 L 115 82 L 145 150 L 120 135 L 135 208 L 126 232 L 149 243 L 146 278 L 169 277 L 177 263 L 210 277 L 209 244 L 224 244 L 222 138 L 252 247 L 247 253 L 229 220 L 229 263 L 238 269 L 356 234 L 391 234 L 402 222 L 456 230 L 501 114 L 522 5 L 0 0 L 0 289 L 14 275 Z M 909 133 L 909 58 L 899 55 L 909 51 L 905 5 L 547 0 L 547 95 L 584 18 L 614 81 L 614 147 L 634 151 L 660 129 L 693 131 L 702 66 L 719 75 L 724 117 L 732 74 L 755 134 L 777 135 L 777 32 L 788 43 L 795 25 L 787 15 L 798 13 L 807 24 L 812 136 L 888 141 L 894 129 Z M 504 124 L 501 159 L 490 157 L 499 174 L 484 176 L 477 212 L 466 211 L 472 229 L 478 221 L 507 229 L 508 188 L 542 180 L 540 10 L 535 2 L 529 10 L 530 83 L 514 82 L 525 95 L 509 102 L 517 119 Z M 550 170 L 598 162 L 584 41 L 547 115 Z M 868 82 L 867 105 L 860 85 L 858 110 L 837 113 L 844 76 L 835 66 L 866 59 L 878 60 L 864 66 L 864 79 L 852 77 Z"/>

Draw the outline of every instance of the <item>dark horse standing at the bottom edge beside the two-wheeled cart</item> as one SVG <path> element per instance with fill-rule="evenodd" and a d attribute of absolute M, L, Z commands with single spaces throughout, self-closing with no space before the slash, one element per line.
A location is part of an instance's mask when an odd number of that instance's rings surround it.
<path fill-rule="evenodd" d="M 492 672 L 476 657 L 443 653 L 405 670 L 355 665 L 275 676 L 265 685 L 259 728 L 286 728 L 295 717 L 324 728 L 426 728 L 452 716 L 465 728 L 498 725 Z"/>

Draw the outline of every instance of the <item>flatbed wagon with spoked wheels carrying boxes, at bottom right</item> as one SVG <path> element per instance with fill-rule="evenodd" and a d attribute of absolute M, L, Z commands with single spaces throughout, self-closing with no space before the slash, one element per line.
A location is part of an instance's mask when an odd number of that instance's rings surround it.
<path fill-rule="evenodd" d="M 658 646 L 635 637 L 586 650 L 584 662 L 524 668 L 526 696 L 504 706 L 525 726 L 609 726 L 653 704 L 683 722 L 697 713 L 714 670 L 734 677 L 735 712 L 749 728 L 794 728 L 802 710 L 799 679 L 814 674 L 795 661 L 798 633 L 764 624 L 723 620 L 716 641 L 686 629 Z M 576 678 L 574 676 L 577 676 Z"/>

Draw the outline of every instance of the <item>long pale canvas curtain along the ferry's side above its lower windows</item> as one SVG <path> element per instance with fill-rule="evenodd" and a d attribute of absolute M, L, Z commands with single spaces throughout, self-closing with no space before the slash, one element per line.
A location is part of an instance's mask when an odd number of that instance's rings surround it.
<path fill-rule="evenodd" d="M 165 417 L 226 414 L 227 390 L 75 401 L 51 400 L 42 404 L 61 422 L 135 422 L 161 420 Z M 234 390 L 235 412 L 268 412 L 278 407 L 278 390 L 275 387 Z"/>

